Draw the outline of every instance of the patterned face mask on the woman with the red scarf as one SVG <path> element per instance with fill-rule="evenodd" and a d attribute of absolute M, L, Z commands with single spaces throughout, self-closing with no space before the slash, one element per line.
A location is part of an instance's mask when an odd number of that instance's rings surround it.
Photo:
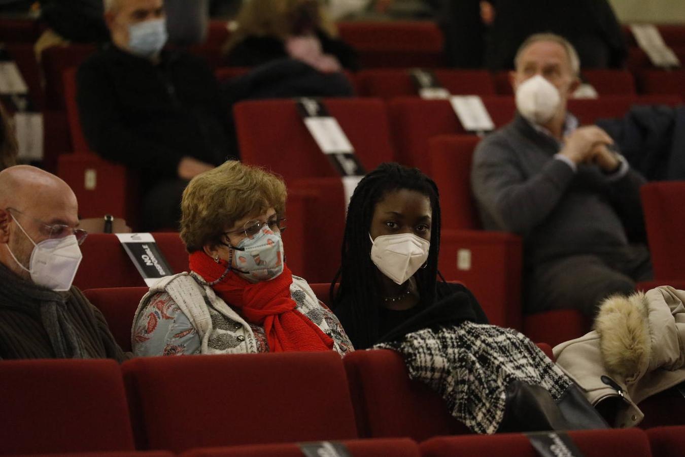
<path fill-rule="evenodd" d="M 283 273 L 284 251 L 281 234 L 269 225 L 234 247 L 232 268 L 250 282 L 273 280 Z"/>

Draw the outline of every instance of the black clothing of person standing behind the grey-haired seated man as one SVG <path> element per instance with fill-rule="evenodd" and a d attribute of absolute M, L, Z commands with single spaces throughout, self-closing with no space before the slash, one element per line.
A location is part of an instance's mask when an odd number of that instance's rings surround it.
<path fill-rule="evenodd" d="M 580 67 L 619 68 L 627 55 L 623 31 L 608 0 L 495 0 L 495 21 L 486 36 L 485 64 L 511 69 L 525 38 L 552 32 L 571 42 Z"/>

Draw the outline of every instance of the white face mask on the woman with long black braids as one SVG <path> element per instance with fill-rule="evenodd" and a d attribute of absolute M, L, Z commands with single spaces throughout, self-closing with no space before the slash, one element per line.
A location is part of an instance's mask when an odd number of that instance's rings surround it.
<path fill-rule="evenodd" d="M 404 284 L 421 268 L 430 248 L 429 241 L 412 233 L 376 236 L 371 243 L 371 260 L 397 284 Z"/>

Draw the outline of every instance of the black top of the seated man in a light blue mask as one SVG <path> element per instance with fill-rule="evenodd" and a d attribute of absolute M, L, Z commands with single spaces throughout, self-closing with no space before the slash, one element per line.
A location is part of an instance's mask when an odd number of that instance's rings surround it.
<path fill-rule="evenodd" d="M 105 45 L 79 67 L 77 84 L 90 148 L 144 171 L 146 184 L 176 178 L 183 156 L 213 165 L 235 156 L 219 85 L 201 58 L 165 50 L 153 64 Z"/>

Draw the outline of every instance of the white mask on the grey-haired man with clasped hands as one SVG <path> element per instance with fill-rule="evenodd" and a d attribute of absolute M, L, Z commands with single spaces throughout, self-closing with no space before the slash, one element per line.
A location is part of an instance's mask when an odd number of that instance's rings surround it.
<path fill-rule="evenodd" d="M 557 88 L 540 75 L 526 79 L 516 89 L 516 109 L 525 119 L 538 125 L 551 121 L 560 103 Z"/>

